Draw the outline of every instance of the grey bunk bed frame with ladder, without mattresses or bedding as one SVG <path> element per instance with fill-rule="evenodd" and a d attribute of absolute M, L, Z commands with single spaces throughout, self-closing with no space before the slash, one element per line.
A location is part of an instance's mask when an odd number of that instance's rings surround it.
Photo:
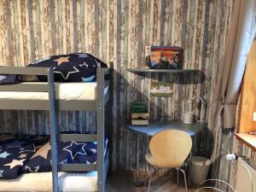
<path fill-rule="evenodd" d="M 111 68 L 96 69 L 96 100 L 55 100 L 54 71 L 52 67 L 0 67 L 1 74 L 44 75 L 45 84 L 3 84 L 1 91 L 48 92 L 49 100 L 5 100 L 0 99 L 0 109 L 49 110 L 50 143 L 52 159 L 53 192 L 58 192 L 58 172 L 90 172 L 97 171 L 97 191 L 105 191 L 108 174 L 108 152 L 104 155 L 105 136 L 105 106 L 110 97 L 110 91 L 104 94 L 104 88 L 109 86 L 105 75 L 111 73 Z M 96 134 L 60 134 L 56 123 L 58 110 L 93 110 L 96 111 Z M 58 164 L 57 141 L 67 142 L 97 142 L 97 164 Z"/>

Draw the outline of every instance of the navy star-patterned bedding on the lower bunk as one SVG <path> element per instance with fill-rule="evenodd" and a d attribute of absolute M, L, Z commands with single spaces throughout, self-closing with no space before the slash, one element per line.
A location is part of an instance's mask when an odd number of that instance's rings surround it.
<path fill-rule="evenodd" d="M 106 137 L 105 146 L 107 143 Z M 96 148 L 96 142 L 59 142 L 58 162 L 96 164 Z M 50 171 L 49 137 L 33 136 L 0 140 L 0 179 L 17 178 L 21 173 Z"/>

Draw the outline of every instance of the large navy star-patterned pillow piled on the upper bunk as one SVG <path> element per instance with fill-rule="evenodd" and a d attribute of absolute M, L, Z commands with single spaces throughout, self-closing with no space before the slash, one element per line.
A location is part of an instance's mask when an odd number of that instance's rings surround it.
<path fill-rule="evenodd" d="M 97 67 L 108 66 L 93 55 L 76 53 L 50 56 L 27 67 L 54 67 L 55 82 L 90 82 L 96 79 Z M 47 77 L 38 76 L 38 81 L 47 81 Z"/>

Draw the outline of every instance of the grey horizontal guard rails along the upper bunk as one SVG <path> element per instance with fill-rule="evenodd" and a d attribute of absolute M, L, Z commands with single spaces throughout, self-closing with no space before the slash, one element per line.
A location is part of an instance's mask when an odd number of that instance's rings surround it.
<path fill-rule="evenodd" d="M 49 68 L 45 67 L 0 67 L 0 74 L 26 74 L 26 75 L 47 75 L 49 76 Z M 111 73 L 111 68 L 97 68 L 102 71 L 102 77 L 106 77 Z M 98 76 L 99 77 L 99 76 Z M 98 79 L 97 79 L 98 82 Z M 52 82 L 53 83 L 53 82 Z M 99 83 L 98 83 L 99 84 Z M 110 84 L 109 80 L 104 79 L 102 82 L 104 87 Z M 100 86 L 102 87 L 102 84 Z M 49 82 L 38 84 L 38 82 L 30 82 L 29 84 L 2 84 L 0 91 L 24 91 L 24 92 L 49 92 Z M 105 96 L 105 104 L 109 100 L 109 91 Z M 21 110 L 49 110 L 49 101 L 47 100 L 6 100 L 0 99 L 0 109 L 21 109 Z M 55 100 L 55 108 L 59 110 L 96 110 L 96 100 Z M 85 108 L 85 109 L 84 109 Z"/>

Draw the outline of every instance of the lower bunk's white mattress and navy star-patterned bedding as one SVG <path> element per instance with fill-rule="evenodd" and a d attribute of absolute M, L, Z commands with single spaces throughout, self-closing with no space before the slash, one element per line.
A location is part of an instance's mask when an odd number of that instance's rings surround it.
<path fill-rule="evenodd" d="M 105 137 L 104 173 L 108 174 L 108 138 Z M 58 161 L 96 164 L 96 142 L 58 143 Z M 51 192 L 49 137 L 0 135 L 0 191 Z M 97 172 L 58 172 L 59 191 L 97 191 Z M 5 179 L 4 179 L 5 178 Z"/>

